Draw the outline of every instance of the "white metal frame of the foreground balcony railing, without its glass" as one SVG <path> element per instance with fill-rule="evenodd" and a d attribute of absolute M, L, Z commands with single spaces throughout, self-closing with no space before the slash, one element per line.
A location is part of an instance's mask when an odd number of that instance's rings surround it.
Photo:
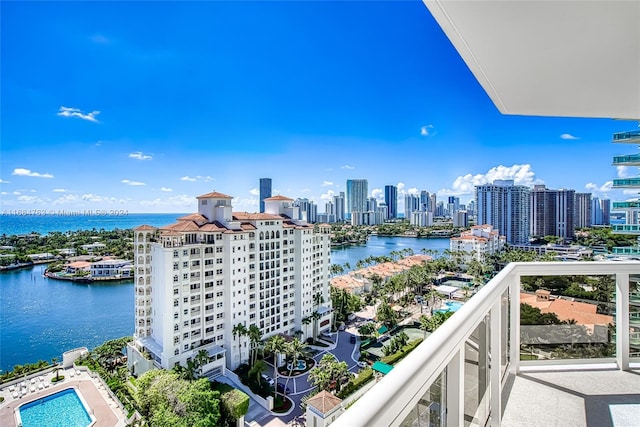
<path fill-rule="evenodd" d="M 482 397 L 485 412 L 471 414 L 472 425 L 499 426 L 502 417 L 501 395 L 508 374 L 520 371 L 520 277 L 611 275 L 616 278 L 615 328 L 616 356 L 607 359 L 618 369 L 629 369 L 629 275 L 640 274 L 638 262 L 533 262 L 511 263 L 465 303 L 450 319 L 402 360 L 368 393 L 362 396 L 332 424 L 336 427 L 400 426 L 436 380 L 443 379 L 440 425 L 463 425 L 465 422 L 465 346 L 479 326 L 488 320 L 484 343 L 488 350 L 486 393 Z M 505 300 L 505 296 L 507 296 Z M 502 310 L 509 305 L 509 318 Z M 489 317 L 487 318 L 487 315 Z M 504 322 L 508 322 L 505 325 Z M 506 326 L 506 327 L 505 327 Z M 508 328 L 508 329 L 507 329 Z M 507 334 L 500 331 L 509 332 Z M 485 337 L 486 338 L 486 337 Z M 475 338 L 474 338 L 475 340 Z M 481 343 L 481 346 L 483 344 Z M 482 348 L 482 347 L 481 347 Z M 503 351 L 508 349 L 508 364 Z M 491 363 L 491 361 L 495 361 Z M 602 359 L 597 359 L 602 362 Z M 553 361 L 546 361 L 553 362 Z M 593 360 L 558 360 L 557 365 L 594 363 Z M 535 361 L 526 362 L 535 365 Z M 523 364 L 524 365 L 524 364 Z M 548 363 L 539 366 L 549 367 Z M 485 398 L 488 399 L 485 402 Z M 475 417 L 479 417 L 476 420 Z M 430 425 L 430 424 L 420 424 Z"/>

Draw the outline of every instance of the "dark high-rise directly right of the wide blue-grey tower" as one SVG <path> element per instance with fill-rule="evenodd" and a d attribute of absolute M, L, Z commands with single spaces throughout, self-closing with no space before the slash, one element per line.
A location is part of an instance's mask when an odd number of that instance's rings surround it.
<path fill-rule="evenodd" d="M 551 190 L 535 185 L 531 190 L 531 235 L 575 237 L 575 191 Z"/>

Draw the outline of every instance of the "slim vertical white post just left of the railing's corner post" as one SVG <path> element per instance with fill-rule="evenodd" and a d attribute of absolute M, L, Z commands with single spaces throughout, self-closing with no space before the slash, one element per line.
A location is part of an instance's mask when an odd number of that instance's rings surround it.
<path fill-rule="evenodd" d="M 502 419 L 502 298 L 493 304 L 490 314 L 490 348 L 491 362 L 489 367 L 489 396 L 491 425 L 499 427 Z"/>

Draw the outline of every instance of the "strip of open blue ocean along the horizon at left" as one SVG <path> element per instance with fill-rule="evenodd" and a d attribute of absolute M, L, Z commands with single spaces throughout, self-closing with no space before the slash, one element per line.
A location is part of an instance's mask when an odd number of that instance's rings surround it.
<path fill-rule="evenodd" d="M 52 211 L 54 212 L 54 211 Z M 72 212 L 73 215 L 48 213 L 44 211 L 24 211 L 23 215 L 5 215 L 0 217 L 0 235 L 28 234 L 32 232 L 46 234 L 52 231 L 76 230 L 113 230 L 115 228 L 135 228 L 142 224 L 160 227 L 176 222 L 176 218 L 186 214 L 130 214 L 126 211 L 113 211 L 103 214 L 102 211 Z M 78 215 L 76 215 L 78 213 Z"/>

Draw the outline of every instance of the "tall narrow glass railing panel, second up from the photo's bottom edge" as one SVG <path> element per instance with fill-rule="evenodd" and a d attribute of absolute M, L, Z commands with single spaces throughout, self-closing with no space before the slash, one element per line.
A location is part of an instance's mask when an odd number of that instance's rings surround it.
<path fill-rule="evenodd" d="M 489 418 L 489 315 L 464 346 L 464 425 L 484 426 Z"/>

